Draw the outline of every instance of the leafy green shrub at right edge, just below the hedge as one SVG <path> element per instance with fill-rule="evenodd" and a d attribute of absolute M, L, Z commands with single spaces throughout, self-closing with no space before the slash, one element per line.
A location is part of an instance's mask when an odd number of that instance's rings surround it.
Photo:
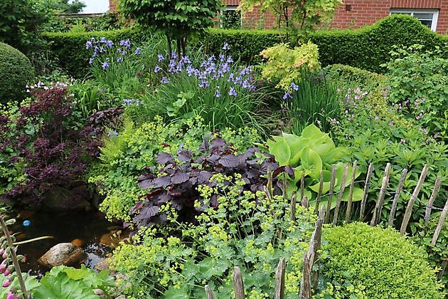
<path fill-rule="evenodd" d="M 393 51 L 387 64 L 388 101 L 405 115 L 448 140 L 448 57 L 442 51 L 425 51 L 422 45 Z"/>

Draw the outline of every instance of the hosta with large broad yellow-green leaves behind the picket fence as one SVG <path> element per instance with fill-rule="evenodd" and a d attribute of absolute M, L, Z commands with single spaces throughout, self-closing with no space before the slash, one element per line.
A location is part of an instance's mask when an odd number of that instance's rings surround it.
<path fill-rule="evenodd" d="M 348 151 L 344 147 L 336 147 L 328 134 L 321 132 L 315 125 L 309 125 L 302 131 L 302 135 L 283 133 L 273 136 L 267 141 L 270 154 L 274 155 L 280 167 L 292 168 L 287 174 L 288 191 L 296 192 L 298 184 L 304 175 L 304 195 L 312 200 L 319 191 L 320 174 L 323 172 L 324 184 L 322 194 L 330 189 L 331 168 L 336 165 L 336 179 L 334 192 L 341 189 L 344 162 L 349 161 Z M 351 184 L 352 167 L 348 167 L 346 185 Z M 356 172 L 356 177 L 360 173 Z M 355 177 L 355 178 L 356 178 Z M 353 189 L 353 201 L 361 200 L 363 192 L 360 188 Z M 333 197 L 331 206 L 336 204 L 337 196 Z M 348 199 L 348 188 L 343 193 L 343 201 Z M 323 202 L 326 197 L 323 198 Z"/>

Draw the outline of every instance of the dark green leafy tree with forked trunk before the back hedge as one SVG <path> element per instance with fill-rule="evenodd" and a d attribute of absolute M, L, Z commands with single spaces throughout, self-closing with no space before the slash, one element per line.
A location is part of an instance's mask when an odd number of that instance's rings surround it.
<path fill-rule="evenodd" d="M 188 36 L 212 26 L 221 7 L 220 0 L 119 0 L 124 16 L 166 35 L 170 55 L 176 41 L 179 56 L 186 53 Z"/>

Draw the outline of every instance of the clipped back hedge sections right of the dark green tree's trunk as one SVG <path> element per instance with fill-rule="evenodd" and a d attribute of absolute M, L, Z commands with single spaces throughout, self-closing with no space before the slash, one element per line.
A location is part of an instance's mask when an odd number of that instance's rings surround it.
<path fill-rule="evenodd" d="M 207 33 L 203 41 L 210 52 L 219 53 L 223 43 L 227 42 L 233 56 L 251 63 L 260 59 L 257 58 L 260 51 L 284 41 L 279 31 L 213 28 Z M 388 16 L 371 26 L 354 30 L 317 31 L 311 33 L 310 39 L 319 46 L 323 66 L 340 63 L 376 73 L 385 72 L 380 65 L 390 60 L 389 52 L 394 45 L 422 43 L 430 49 L 440 46 L 448 55 L 448 36 L 430 31 L 420 21 L 407 15 Z"/>

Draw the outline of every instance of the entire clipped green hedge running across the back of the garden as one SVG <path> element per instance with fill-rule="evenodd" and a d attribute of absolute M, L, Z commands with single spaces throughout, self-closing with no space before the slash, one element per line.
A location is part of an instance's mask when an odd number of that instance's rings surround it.
<path fill-rule="evenodd" d="M 87 73 L 89 53 L 85 51 L 84 45 L 92 36 L 105 36 L 112 40 L 131 38 L 132 41 L 139 41 L 145 33 L 138 28 L 128 28 L 118 31 L 43 34 L 60 65 L 77 78 Z M 385 72 L 380 65 L 390 60 L 389 52 L 394 45 L 410 46 L 422 43 L 428 49 L 439 46 L 448 56 L 448 36 L 430 31 L 420 21 L 407 15 L 388 16 L 360 29 L 318 31 L 311 33 L 310 38 L 319 46 L 323 66 L 341 63 L 376 73 Z M 292 43 L 295 40 L 297 39 L 291 38 Z M 223 44 L 229 43 L 228 53 L 234 58 L 253 64 L 260 61 L 260 51 L 284 41 L 284 33 L 210 28 L 199 36 L 198 41 L 205 44 L 209 53 L 220 53 Z"/>

